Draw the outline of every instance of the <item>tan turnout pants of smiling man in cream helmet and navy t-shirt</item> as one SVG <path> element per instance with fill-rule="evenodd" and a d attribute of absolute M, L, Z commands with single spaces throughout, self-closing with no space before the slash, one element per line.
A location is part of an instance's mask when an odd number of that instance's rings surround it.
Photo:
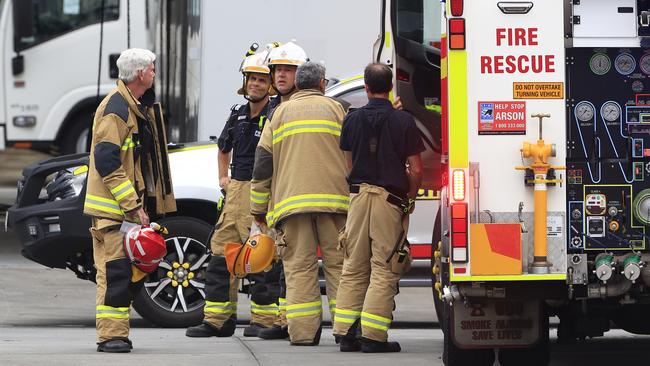
<path fill-rule="evenodd" d="M 224 257 L 225 243 L 245 243 L 253 217 L 250 214 L 250 182 L 232 180 L 226 187 L 226 204 L 210 240 L 212 256 L 205 278 L 204 321 L 221 328 L 229 318 L 237 317 L 239 280 L 228 272 Z M 248 276 L 252 285 L 251 324 L 272 326 L 278 318 L 281 265 L 269 272 Z"/>

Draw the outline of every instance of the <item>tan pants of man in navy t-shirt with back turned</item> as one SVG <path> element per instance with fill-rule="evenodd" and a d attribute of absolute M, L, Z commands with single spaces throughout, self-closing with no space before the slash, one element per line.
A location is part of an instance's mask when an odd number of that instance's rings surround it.
<path fill-rule="evenodd" d="M 363 337 L 388 339 L 400 275 L 391 271 L 386 260 L 402 232 L 402 211 L 386 201 L 388 195 L 385 189 L 368 184 L 350 195 L 334 334 L 346 335 L 360 320 Z"/>

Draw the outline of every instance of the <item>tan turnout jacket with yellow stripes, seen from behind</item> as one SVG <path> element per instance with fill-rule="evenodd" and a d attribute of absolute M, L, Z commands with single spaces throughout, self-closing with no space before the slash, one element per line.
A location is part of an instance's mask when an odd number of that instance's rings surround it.
<path fill-rule="evenodd" d="M 255 154 L 253 214 L 273 226 L 296 213 L 347 213 L 344 116 L 340 103 L 317 90 L 300 90 L 277 107 Z"/>

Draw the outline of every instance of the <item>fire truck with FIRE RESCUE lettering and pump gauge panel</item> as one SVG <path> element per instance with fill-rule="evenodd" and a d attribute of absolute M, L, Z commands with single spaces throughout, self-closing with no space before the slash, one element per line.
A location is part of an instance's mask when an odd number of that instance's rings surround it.
<path fill-rule="evenodd" d="M 442 12 L 444 363 L 547 365 L 551 316 L 650 334 L 650 1 Z"/>

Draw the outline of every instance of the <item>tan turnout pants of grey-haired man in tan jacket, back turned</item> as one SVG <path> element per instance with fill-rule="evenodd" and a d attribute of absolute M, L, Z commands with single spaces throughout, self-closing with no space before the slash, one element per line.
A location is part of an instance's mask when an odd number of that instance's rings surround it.
<path fill-rule="evenodd" d="M 278 246 L 286 276 L 286 317 L 293 343 L 312 342 L 321 326 L 319 245 L 330 312 L 333 314 L 343 266 L 343 253 L 338 250 L 338 232 L 344 224 L 344 215 L 313 213 L 290 216 L 280 225 Z"/>

